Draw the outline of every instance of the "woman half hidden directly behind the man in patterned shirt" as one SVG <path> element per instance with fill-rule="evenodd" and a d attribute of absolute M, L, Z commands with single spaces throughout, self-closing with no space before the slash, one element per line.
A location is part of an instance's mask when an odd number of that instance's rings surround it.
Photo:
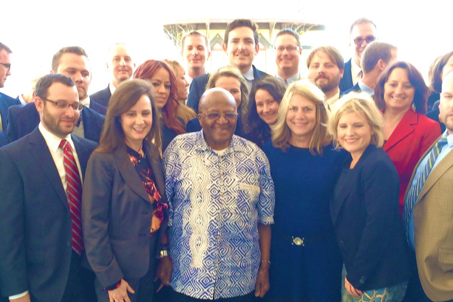
<path fill-rule="evenodd" d="M 236 100 L 238 107 L 238 123 L 236 124 L 235 134 L 244 137 L 243 134 L 243 115 L 247 106 L 247 98 L 249 89 L 246 79 L 241 74 L 237 67 L 225 66 L 209 74 L 209 80 L 206 84 L 206 90 L 211 88 L 223 88 L 229 91 Z M 187 123 L 187 132 L 200 131 L 201 125 L 198 118 L 195 118 Z"/>

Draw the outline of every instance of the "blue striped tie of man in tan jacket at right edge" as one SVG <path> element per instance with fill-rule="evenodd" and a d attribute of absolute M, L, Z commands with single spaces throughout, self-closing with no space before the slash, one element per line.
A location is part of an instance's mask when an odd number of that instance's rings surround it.
<path fill-rule="evenodd" d="M 412 190 L 409 198 L 404 204 L 403 215 L 404 221 L 406 222 L 406 230 L 409 227 L 409 218 L 411 217 L 411 212 L 412 209 L 414 208 L 415 202 L 418 199 L 418 195 L 420 195 L 420 192 L 423 189 L 426 180 L 428 179 L 429 173 L 431 173 L 432 166 L 434 166 L 436 158 L 439 156 L 440 150 L 446 143 L 447 143 L 446 136 L 441 136 L 439 140 L 435 143 L 435 145 L 432 147 L 431 152 L 429 153 L 428 162 L 423 168 L 423 172 L 420 174 L 415 185 L 415 188 Z"/>

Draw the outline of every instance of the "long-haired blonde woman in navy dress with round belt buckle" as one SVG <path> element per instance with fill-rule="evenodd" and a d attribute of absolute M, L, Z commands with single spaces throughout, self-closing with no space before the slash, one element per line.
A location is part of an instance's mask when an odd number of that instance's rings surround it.
<path fill-rule="evenodd" d="M 275 185 L 271 301 L 339 301 L 341 256 L 329 199 L 344 153 L 327 133 L 326 96 L 310 80 L 289 85 L 263 150 Z"/>

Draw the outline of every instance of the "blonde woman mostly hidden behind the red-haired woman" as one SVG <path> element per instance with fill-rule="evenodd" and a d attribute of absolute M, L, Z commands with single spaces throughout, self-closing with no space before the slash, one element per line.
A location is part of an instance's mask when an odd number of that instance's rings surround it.
<path fill-rule="evenodd" d="M 176 75 L 176 87 L 177 92 L 176 95 L 178 97 L 179 106 L 176 112 L 176 115 L 184 120 L 184 123 L 187 124 L 188 121 L 197 117 L 195 111 L 192 108 L 186 105 L 187 101 L 187 87 L 189 83 L 186 81 L 185 75 L 186 71 L 184 70 L 183 66 L 176 60 L 164 59 L 170 68 L 172 68 L 173 72 Z"/>

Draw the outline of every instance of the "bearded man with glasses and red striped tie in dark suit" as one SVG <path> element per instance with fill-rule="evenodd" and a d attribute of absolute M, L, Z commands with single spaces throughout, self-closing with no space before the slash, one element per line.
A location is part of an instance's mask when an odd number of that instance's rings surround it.
<path fill-rule="evenodd" d="M 39 126 L 0 149 L 2 294 L 14 301 L 93 301 L 94 274 L 80 265 L 80 208 L 97 143 L 71 135 L 81 105 L 70 78 L 45 75 L 35 95 Z"/>

